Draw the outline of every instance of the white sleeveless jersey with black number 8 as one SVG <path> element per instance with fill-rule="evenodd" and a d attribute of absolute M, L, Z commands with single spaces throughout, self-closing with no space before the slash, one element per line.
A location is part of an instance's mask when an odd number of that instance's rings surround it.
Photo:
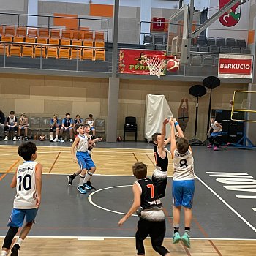
<path fill-rule="evenodd" d="M 185 154 L 173 152 L 173 181 L 184 181 L 194 179 L 194 159 L 192 152 L 188 150 Z"/>

